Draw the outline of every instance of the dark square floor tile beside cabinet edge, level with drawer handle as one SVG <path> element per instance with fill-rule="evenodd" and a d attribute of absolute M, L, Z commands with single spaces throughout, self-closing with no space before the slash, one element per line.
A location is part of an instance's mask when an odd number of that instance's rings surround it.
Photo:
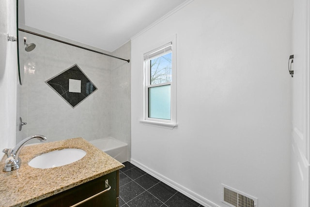
<path fill-rule="evenodd" d="M 126 185 L 120 187 L 120 197 L 124 200 L 124 202 L 127 203 L 134 197 L 141 194 L 143 191 L 145 190 L 140 185 L 138 185 L 134 181 L 131 181 Z"/>

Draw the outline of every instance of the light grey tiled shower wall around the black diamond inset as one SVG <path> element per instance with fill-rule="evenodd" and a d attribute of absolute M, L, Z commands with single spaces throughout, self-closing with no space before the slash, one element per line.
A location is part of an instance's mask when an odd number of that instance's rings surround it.
<path fill-rule="evenodd" d="M 90 141 L 110 136 L 110 58 L 28 33 L 20 35 L 21 42 L 24 35 L 36 48 L 26 52 L 20 44 L 24 71 L 21 111 L 27 122 L 23 137 L 42 134 L 52 142 L 74 137 Z M 73 64 L 78 64 L 98 88 L 74 109 L 45 83 Z"/>

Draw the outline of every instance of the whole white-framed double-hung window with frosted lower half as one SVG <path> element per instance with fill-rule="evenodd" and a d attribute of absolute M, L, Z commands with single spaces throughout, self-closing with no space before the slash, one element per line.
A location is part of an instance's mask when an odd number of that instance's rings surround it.
<path fill-rule="evenodd" d="M 175 51 L 173 41 L 144 54 L 144 119 L 176 126 Z"/>

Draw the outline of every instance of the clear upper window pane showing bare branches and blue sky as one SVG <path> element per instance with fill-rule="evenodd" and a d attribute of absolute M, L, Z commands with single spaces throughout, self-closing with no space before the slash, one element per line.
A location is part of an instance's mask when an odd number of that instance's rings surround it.
<path fill-rule="evenodd" d="M 172 81 L 171 78 L 171 56 L 172 53 L 162 55 L 150 61 L 151 64 L 151 85 Z"/>

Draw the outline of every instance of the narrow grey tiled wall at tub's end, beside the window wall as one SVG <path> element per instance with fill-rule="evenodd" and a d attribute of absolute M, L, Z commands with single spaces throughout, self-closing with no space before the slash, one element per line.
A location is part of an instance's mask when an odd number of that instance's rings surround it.
<path fill-rule="evenodd" d="M 112 52 L 114 56 L 130 59 L 131 42 Z M 130 76 L 131 62 L 111 59 L 111 136 L 128 144 L 130 158 Z"/>

